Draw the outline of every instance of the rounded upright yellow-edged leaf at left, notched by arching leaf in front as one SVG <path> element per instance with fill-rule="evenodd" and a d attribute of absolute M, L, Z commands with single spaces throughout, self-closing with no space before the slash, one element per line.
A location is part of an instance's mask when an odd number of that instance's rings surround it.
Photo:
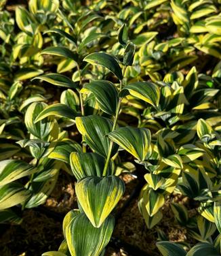
<path fill-rule="evenodd" d="M 37 124 L 35 123 L 37 116 L 46 106 L 47 104 L 43 102 L 34 102 L 28 107 L 24 116 L 24 123 L 28 131 L 40 139 L 47 137 L 54 125 L 48 118 Z"/>

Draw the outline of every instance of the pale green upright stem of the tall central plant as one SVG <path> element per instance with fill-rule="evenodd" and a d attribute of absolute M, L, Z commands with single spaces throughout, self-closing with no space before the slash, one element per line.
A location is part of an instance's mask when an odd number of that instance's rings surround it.
<path fill-rule="evenodd" d="M 123 71 L 122 71 L 123 77 L 125 75 L 126 68 L 127 68 L 127 66 L 123 66 Z M 121 91 L 122 88 L 123 88 L 123 78 L 120 80 L 120 91 Z M 115 119 L 114 119 L 112 131 L 114 131 L 116 126 L 117 126 L 117 119 L 118 119 L 118 116 L 119 116 L 119 112 L 121 110 L 121 101 L 122 101 L 122 97 L 119 97 L 119 101 L 117 103 L 117 110 L 116 110 L 116 114 L 115 114 Z M 104 165 L 103 176 L 106 176 L 108 165 L 109 165 L 109 162 L 111 160 L 111 151 L 112 151 L 112 149 L 113 149 L 113 142 L 111 141 L 110 145 L 109 145 L 109 148 L 108 148 L 108 153 L 107 153 L 107 156 L 106 156 L 106 162 L 105 162 L 105 165 Z"/>

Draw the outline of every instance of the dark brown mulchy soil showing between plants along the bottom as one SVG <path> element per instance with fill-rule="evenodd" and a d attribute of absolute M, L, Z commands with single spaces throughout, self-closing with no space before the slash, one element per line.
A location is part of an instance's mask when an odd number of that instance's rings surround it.
<path fill-rule="evenodd" d="M 138 180 L 130 174 L 123 174 L 121 178 L 125 182 L 125 195 L 119 202 L 115 213 L 121 210 L 123 204 L 129 198 Z M 72 208 L 77 208 L 75 196 L 75 180 L 65 172 L 60 174 L 56 188 L 45 202 L 44 208 L 53 210 L 62 215 Z M 169 201 L 188 204 L 188 200 L 180 195 L 168 198 L 163 206 L 163 220 L 153 229 L 146 228 L 144 219 L 138 210 L 138 199 L 132 199 L 127 208 L 116 221 L 113 232 L 115 238 L 138 247 L 146 252 L 146 255 L 160 255 L 155 246 L 157 242 L 157 229 L 165 232 L 169 240 L 184 242 L 186 240 L 186 229 L 180 227 L 174 220 L 174 214 L 169 208 Z M 2 256 L 39 256 L 46 251 L 57 251 L 63 240 L 62 221 L 58 221 L 48 214 L 35 209 L 24 210 L 21 225 L 10 225 L 1 234 L 0 255 Z M 113 248 L 115 247 L 115 248 Z M 108 246 L 105 256 L 130 255 L 127 248 Z M 118 246 L 119 247 L 119 246 Z"/>

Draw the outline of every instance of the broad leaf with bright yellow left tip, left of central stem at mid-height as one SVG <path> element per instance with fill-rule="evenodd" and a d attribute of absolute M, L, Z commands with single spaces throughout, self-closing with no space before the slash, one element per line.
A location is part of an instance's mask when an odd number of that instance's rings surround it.
<path fill-rule="evenodd" d="M 85 137 L 85 142 L 99 155 L 106 157 L 110 140 L 106 134 L 112 131 L 113 122 L 102 116 L 77 116 L 75 118 L 77 129 Z M 112 156 L 117 153 L 118 146 L 113 146 Z"/>

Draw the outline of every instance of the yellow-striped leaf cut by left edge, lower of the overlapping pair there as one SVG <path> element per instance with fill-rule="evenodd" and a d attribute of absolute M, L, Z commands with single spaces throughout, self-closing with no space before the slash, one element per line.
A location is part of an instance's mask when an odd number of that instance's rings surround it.
<path fill-rule="evenodd" d="M 31 193 L 17 182 L 8 183 L 0 187 L 0 210 L 22 204 Z"/>

